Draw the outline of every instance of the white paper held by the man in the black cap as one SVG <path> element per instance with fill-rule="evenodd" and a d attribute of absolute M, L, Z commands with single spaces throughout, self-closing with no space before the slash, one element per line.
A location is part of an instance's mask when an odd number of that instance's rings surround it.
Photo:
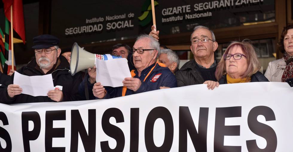
<path fill-rule="evenodd" d="M 52 74 L 40 76 L 26 76 L 14 72 L 13 84 L 22 88 L 22 94 L 32 96 L 48 96 L 50 90 L 54 90 Z"/>

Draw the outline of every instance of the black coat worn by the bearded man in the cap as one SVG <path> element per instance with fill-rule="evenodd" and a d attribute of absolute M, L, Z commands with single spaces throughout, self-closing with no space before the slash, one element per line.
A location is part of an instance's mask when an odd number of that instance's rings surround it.
<path fill-rule="evenodd" d="M 63 101 L 77 101 L 81 100 L 80 95 L 78 94 L 78 86 L 82 81 L 82 75 L 78 72 L 76 75 L 71 76 L 69 63 L 65 57 L 59 56 L 60 60 L 59 65 L 52 72 L 47 72 L 46 74 L 52 74 L 54 86 L 62 86 L 63 92 Z M 28 63 L 27 66 L 23 66 L 21 69 L 17 70 L 22 75 L 27 76 L 36 76 L 44 75 L 38 69 L 36 69 L 37 63 L 36 59 Z M 50 70 L 51 71 L 51 70 Z M 12 75 L 12 77 L 14 74 Z M 1 95 L 0 95 L 1 96 Z M 56 102 L 48 98 L 48 96 L 31 96 L 26 94 L 16 95 L 13 98 L 10 98 L 7 93 L 7 88 L 5 92 L 2 93 L 3 100 L 1 103 L 5 104 L 19 104 L 19 103 L 32 103 L 32 102 Z"/>

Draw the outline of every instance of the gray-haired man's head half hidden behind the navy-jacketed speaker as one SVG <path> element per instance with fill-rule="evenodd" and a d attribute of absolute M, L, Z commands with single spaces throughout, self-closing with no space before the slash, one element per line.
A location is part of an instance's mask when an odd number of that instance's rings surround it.
<path fill-rule="evenodd" d="M 162 49 L 159 55 L 159 63 L 165 64 L 175 74 L 180 63 L 178 55 L 170 49 Z"/>

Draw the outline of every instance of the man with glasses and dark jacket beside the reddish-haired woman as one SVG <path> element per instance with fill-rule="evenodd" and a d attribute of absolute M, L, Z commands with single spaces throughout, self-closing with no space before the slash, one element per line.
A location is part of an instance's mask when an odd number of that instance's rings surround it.
<path fill-rule="evenodd" d="M 217 61 L 214 52 L 218 48 L 218 43 L 213 31 L 205 26 L 196 26 L 190 41 L 194 60 L 188 61 L 176 72 L 178 87 L 202 83 L 207 83 L 211 88 L 219 86 L 218 83 L 209 84 L 211 81 L 217 81 L 215 77 Z"/>

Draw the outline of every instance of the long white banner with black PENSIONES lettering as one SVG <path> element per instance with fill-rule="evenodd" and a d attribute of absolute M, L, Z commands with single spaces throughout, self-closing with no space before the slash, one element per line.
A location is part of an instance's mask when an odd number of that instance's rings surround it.
<path fill-rule="evenodd" d="M 0 105 L 0 151 L 293 151 L 287 83 Z"/>

